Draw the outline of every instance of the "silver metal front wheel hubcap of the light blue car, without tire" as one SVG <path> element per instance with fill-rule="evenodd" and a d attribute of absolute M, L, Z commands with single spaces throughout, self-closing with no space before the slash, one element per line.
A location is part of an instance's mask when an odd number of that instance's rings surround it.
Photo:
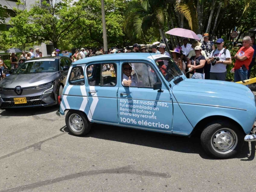
<path fill-rule="evenodd" d="M 212 136 L 212 148 L 214 151 L 227 154 L 236 148 L 238 137 L 236 133 L 229 128 L 222 128 L 216 131 Z"/>

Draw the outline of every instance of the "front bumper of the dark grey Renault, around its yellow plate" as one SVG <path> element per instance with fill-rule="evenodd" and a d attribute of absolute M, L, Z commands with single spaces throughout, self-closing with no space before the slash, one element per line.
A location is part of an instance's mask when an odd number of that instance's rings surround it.
<path fill-rule="evenodd" d="M 57 104 L 57 96 L 54 86 L 46 87 L 39 90 L 23 91 L 22 95 L 16 95 L 11 91 L 0 92 L 0 109 L 8 108 L 27 108 L 38 106 L 51 106 Z M 26 97 L 27 102 L 23 104 L 15 104 L 14 98 Z"/>

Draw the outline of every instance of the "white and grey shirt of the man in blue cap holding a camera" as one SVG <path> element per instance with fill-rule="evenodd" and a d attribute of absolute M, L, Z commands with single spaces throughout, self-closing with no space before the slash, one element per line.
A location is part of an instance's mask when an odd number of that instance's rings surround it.
<path fill-rule="evenodd" d="M 211 52 L 210 54 L 210 57 L 209 58 L 212 58 L 212 57 L 218 57 L 220 58 L 220 61 L 226 61 L 226 58 L 231 58 L 230 56 L 230 51 L 227 49 L 226 50 L 226 56 L 224 55 L 224 49 L 225 48 L 222 48 L 222 50 L 216 50 L 214 52 L 214 50 Z M 214 56 L 212 56 L 214 52 Z M 211 70 L 210 72 L 212 73 L 223 73 L 223 72 L 226 72 L 226 64 L 223 64 L 223 63 L 216 63 L 214 66 L 211 66 Z"/>

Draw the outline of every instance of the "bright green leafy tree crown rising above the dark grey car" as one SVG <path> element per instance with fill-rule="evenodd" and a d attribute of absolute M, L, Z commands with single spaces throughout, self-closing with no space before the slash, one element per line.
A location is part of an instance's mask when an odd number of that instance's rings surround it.
<path fill-rule="evenodd" d="M 32 7 L 30 17 L 38 38 L 51 41 L 54 47 L 58 47 L 62 38 L 81 27 L 80 18 L 85 17 L 85 12 L 81 6 L 73 6 L 72 0 L 50 0 L 50 4 L 44 0 Z"/>

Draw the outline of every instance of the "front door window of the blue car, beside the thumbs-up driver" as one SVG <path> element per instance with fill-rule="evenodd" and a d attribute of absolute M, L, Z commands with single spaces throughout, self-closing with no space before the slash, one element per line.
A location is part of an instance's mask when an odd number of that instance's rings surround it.
<path fill-rule="evenodd" d="M 122 64 L 122 85 L 124 81 L 132 81 L 130 87 L 153 88 L 160 79 L 147 63 L 123 63 Z"/>

